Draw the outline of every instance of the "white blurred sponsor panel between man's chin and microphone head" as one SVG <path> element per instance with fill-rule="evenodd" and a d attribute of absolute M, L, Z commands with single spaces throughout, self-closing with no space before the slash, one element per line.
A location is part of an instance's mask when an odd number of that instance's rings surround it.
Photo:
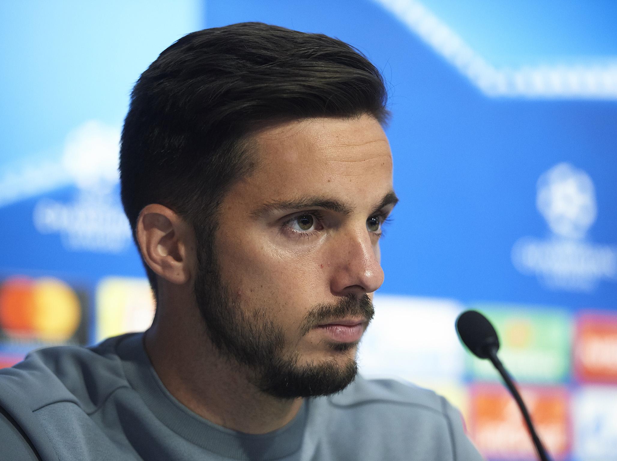
<path fill-rule="evenodd" d="M 365 375 L 459 380 L 465 352 L 454 333 L 463 306 L 448 299 L 379 296 L 358 353 Z"/>

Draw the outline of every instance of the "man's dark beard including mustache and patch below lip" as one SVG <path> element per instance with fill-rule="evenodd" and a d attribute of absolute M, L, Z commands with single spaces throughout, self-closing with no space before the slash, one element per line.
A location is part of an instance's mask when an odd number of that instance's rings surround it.
<path fill-rule="evenodd" d="M 203 247 L 202 247 L 203 248 Z M 249 369 L 249 379 L 262 392 L 281 399 L 325 396 L 341 391 L 358 371 L 355 360 L 340 367 L 335 360 L 299 366 L 299 354 L 284 354 L 285 335 L 266 309 L 247 315 L 231 290 L 220 279 L 214 252 L 197 251 L 199 270 L 194 293 L 207 334 L 218 352 Z M 370 298 L 349 295 L 336 304 L 320 304 L 309 311 L 301 335 L 317 325 L 344 317 L 362 317 L 370 322 L 374 310 Z M 357 343 L 330 343 L 333 351 L 348 351 Z"/>

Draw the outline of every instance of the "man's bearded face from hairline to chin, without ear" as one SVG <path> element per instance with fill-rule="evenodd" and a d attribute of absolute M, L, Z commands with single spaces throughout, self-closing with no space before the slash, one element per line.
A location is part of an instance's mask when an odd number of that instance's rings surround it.
<path fill-rule="evenodd" d="M 368 115 L 254 136 L 257 167 L 219 207 L 197 303 L 221 351 L 279 397 L 328 394 L 357 370 L 383 282 L 381 223 L 395 204 L 386 135 Z"/>

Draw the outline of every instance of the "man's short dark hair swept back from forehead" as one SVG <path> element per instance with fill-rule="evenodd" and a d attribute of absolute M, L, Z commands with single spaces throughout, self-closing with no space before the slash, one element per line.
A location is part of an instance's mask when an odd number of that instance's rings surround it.
<path fill-rule="evenodd" d="M 250 22 L 183 36 L 139 77 L 122 130 L 120 187 L 133 237 L 139 212 L 157 203 L 212 251 L 220 202 L 259 162 L 252 133 L 310 117 L 368 114 L 383 125 L 386 102 L 375 66 L 326 35 Z"/>

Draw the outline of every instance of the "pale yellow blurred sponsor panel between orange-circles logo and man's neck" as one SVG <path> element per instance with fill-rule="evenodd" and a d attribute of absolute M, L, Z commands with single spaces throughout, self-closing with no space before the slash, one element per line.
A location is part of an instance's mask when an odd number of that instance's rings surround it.
<path fill-rule="evenodd" d="M 104 278 L 96 289 L 97 341 L 146 330 L 154 317 L 155 302 L 145 278 Z"/>

